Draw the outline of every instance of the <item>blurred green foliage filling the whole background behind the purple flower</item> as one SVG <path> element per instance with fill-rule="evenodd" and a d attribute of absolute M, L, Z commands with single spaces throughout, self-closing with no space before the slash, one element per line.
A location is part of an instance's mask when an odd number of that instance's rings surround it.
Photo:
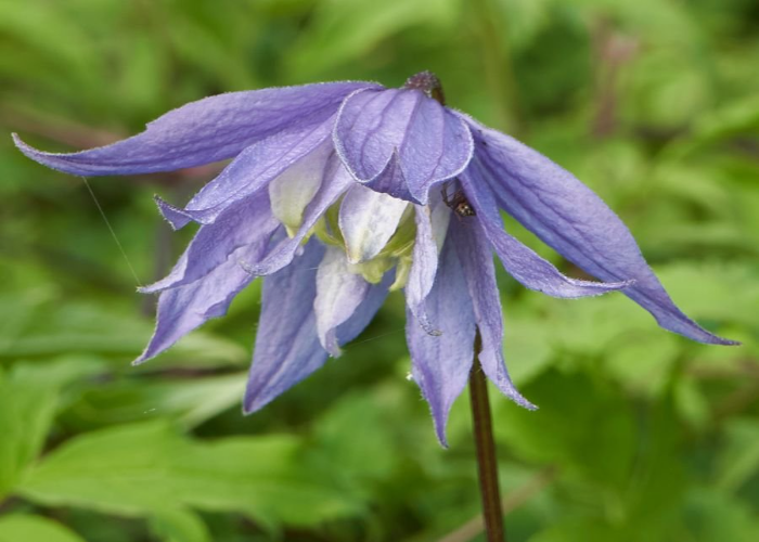
<path fill-rule="evenodd" d="M 492 399 L 511 541 L 749 542 L 759 532 L 759 8 L 752 0 L 0 0 L 0 541 L 475 540 L 467 403 L 434 437 L 391 297 L 339 360 L 243 417 L 259 289 L 132 367 L 154 300 L 80 179 L 93 146 L 211 93 L 432 69 L 449 102 L 575 171 L 674 299 L 499 278 L 504 349 L 541 410 Z M 142 282 L 213 170 L 92 182 Z M 556 255 L 533 243 L 565 271 Z"/>

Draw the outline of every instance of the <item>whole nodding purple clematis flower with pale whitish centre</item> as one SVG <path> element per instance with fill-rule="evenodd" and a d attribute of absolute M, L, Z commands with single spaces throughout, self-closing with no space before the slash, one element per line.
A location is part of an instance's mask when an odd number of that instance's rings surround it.
<path fill-rule="evenodd" d="M 244 399 L 254 412 L 340 353 L 389 291 L 402 288 L 412 374 L 438 438 L 478 359 L 507 397 L 533 408 L 504 364 L 492 253 L 526 287 L 554 297 L 621 289 L 662 327 L 732 344 L 683 314 L 619 218 L 571 173 L 443 105 L 429 73 L 400 89 L 331 82 L 233 92 L 167 113 L 100 149 L 31 159 L 78 176 L 168 171 L 232 158 L 183 208 L 158 206 L 197 234 L 158 294 L 155 334 L 137 362 L 166 350 L 263 276 Z M 597 279 L 564 276 L 503 229 L 505 210 Z"/>

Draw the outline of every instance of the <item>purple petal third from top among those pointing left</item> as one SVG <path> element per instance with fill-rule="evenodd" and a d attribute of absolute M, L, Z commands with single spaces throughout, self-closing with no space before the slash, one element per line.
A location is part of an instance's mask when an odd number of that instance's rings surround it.
<path fill-rule="evenodd" d="M 266 192 L 239 202 L 216 222 L 201 227 L 171 272 L 140 292 L 152 294 L 190 284 L 223 263 L 241 246 L 268 243 L 278 227 Z"/>

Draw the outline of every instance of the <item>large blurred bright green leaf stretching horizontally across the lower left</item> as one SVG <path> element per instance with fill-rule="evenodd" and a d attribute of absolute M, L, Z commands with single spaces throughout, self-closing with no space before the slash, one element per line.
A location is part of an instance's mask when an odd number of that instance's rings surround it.
<path fill-rule="evenodd" d="M 73 439 L 29 473 L 22 494 L 47 505 L 76 505 L 151 516 L 167 503 L 242 512 L 265 525 L 313 525 L 359 511 L 329 480 L 305 468 L 294 437 L 190 441 L 163 421 Z"/>

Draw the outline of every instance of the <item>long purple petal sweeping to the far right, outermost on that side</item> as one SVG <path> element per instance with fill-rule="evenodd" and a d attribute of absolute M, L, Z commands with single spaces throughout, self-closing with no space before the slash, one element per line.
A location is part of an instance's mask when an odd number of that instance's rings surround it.
<path fill-rule="evenodd" d="M 468 119 L 484 177 L 510 215 L 586 272 L 634 280 L 625 295 L 659 325 L 700 343 L 735 345 L 689 319 L 651 270 L 630 231 L 601 198 L 537 151 Z"/>

